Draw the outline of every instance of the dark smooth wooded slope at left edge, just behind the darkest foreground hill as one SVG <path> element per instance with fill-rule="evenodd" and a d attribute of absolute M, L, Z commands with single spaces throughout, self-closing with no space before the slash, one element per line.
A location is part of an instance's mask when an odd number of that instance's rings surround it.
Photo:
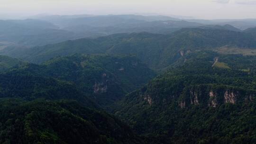
<path fill-rule="evenodd" d="M 19 70 L 2 73 L 0 79 L 0 98 L 74 99 L 85 106 L 98 107 L 90 97 L 84 95 L 71 82 Z"/>

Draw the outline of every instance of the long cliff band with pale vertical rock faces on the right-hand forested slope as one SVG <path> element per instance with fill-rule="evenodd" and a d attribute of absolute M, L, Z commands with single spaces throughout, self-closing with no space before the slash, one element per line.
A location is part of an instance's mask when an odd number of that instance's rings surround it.
<path fill-rule="evenodd" d="M 256 91 L 228 86 L 214 89 L 211 85 L 194 86 L 186 91 L 183 91 L 183 94 L 180 96 L 182 99 L 178 101 L 180 108 L 185 108 L 189 105 L 201 104 L 216 108 L 217 106 L 225 103 L 236 104 L 238 101 L 253 101 L 256 95 Z"/>

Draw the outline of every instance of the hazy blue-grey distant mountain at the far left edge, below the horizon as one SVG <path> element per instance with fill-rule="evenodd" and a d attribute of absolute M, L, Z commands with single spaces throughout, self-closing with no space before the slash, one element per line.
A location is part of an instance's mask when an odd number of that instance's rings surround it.
<path fill-rule="evenodd" d="M 52 23 L 34 19 L 0 20 L 0 33 L 0 43 L 9 42 L 14 43 L 12 45 L 27 46 L 81 38 L 72 32 L 58 29 Z"/>

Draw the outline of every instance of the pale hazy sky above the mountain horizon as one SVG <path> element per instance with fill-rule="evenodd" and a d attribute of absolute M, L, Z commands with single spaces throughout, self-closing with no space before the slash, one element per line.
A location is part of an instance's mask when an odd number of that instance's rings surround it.
<path fill-rule="evenodd" d="M 256 18 L 256 0 L 0 0 L 0 17 L 156 13 L 194 18 Z"/>

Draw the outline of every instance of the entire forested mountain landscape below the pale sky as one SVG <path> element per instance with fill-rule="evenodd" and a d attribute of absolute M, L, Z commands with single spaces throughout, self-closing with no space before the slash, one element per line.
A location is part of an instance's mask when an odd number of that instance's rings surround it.
<path fill-rule="evenodd" d="M 0 144 L 256 142 L 255 28 L 38 19 L 0 21 Z"/>

